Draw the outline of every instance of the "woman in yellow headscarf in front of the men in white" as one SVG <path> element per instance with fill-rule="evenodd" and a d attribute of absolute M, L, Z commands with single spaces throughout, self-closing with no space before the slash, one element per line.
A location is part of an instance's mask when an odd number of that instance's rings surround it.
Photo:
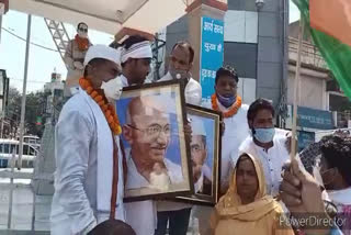
<path fill-rule="evenodd" d="M 236 165 L 230 188 L 220 198 L 211 219 L 214 235 L 293 235 L 282 206 L 265 192 L 261 164 L 242 154 Z"/>

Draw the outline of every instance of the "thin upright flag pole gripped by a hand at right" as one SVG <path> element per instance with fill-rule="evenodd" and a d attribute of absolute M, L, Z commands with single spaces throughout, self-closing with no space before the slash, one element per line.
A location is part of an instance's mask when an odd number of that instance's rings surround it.
<path fill-rule="evenodd" d="M 299 16 L 299 30 L 298 30 L 298 46 L 297 46 L 297 58 L 296 58 L 296 70 L 295 70 L 295 80 L 294 80 L 294 111 L 293 111 L 293 126 L 292 126 L 292 148 L 291 148 L 291 160 L 294 159 L 296 156 L 296 128 L 297 128 L 297 105 L 299 104 L 299 101 L 297 101 L 301 93 L 301 86 L 299 86 L 299 79 L 301 79 L 301 53 L 303 49 L 303 37 L 304 37 L 304 30 L 305 24 L 303 21 L 303 14 Z"/>

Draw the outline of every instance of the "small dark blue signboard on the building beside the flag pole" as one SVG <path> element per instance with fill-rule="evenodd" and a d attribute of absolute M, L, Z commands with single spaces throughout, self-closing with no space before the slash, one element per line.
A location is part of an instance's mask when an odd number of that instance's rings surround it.
<path fill-rule="evenodd" d="M 297 108 L 297 126 L 305 128 L 332 130 L 332 113 L 306 107 Z"/>

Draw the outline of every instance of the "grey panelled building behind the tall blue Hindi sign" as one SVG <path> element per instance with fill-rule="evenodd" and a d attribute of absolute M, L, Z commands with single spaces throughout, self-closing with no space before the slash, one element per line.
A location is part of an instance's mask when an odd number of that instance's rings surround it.
<path fill-rule="evenodd" d="M 286 0 L 228 1 L 224 19 L 224 65 L 237 69 L 239 94 L 245 103 L 262 97 L 279 107 L 282 100 L 287 78 L 286 12 Z M 189 21 L 186 14 L 167 27 L 167 55 L 177 41 L 189 37 Z"/>

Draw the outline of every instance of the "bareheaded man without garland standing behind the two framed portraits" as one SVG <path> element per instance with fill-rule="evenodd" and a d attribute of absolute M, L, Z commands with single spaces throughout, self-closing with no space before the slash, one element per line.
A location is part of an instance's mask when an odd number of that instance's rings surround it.
<path fill-rule="evenodd" d="M 185 80 L 185 102 L 193 105 L 201 105 L 201 85 L 193 79 L 190 74 L 194 59 L 192 46 L 186 42 L 177 43 L 172 48 L 169 59 L 168 72 L 159 81 L 169 81 L 173 79 Z M 170 234 L 185 234 L 189 226 L 191 208 L 192 205 L 186 203 L 159 201 L 157 203 L 158 227 L 155 234 L 165 234 L 168 221 L 170 221 Z"/>

